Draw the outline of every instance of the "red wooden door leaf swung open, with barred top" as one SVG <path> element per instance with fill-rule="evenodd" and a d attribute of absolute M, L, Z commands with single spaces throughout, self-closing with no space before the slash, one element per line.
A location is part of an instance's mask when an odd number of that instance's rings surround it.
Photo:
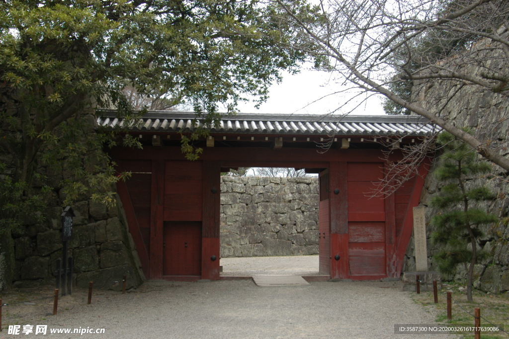
<path fill-rule="evenodd" d="M 330 190 L 329 170 L 326 169 L 319 174 L 319 196 L 318 206 L 318 229 L 319 229 L 319 267 L 320 273 L 330 274 Z"/>

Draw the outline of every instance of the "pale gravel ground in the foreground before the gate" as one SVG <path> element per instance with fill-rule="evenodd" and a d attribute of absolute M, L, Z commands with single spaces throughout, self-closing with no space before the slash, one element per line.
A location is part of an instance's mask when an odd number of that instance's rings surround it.
<path fill-rule="evenodd" d="M 279 273 L 278 273 L 279 274 Z M 401 282 L 312 282 L 259 287 L 252 280 L 149 281 L 123 295 L 75 289 L 47 315 L 51 301 L 4 307 L 0 338 L 419 338 L 456 336 L 394 334 L 394 324 L 433 324 L 434 316 L 403 292 Z M 12 296 L 11 296 L 12 297 Z M 9 301 L 4 296 L 4 302 Z M 15 306 L 19 312 L 14 309 Z M 31 311 L 29 311 L 31 310 Z M 22 312 L 24 311 L 24 316 Z M 20 316 L 16 316 L 20 314 Z M 6 326 L 47 325 L 48 334 L 9 335 Z M 56 328 L 105 328 L 104 334 L 49 334 Z"/>

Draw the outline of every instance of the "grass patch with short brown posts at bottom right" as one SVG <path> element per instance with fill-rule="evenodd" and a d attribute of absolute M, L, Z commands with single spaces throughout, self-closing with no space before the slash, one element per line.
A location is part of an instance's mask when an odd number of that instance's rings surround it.
<path fill-rule="evenodd" d="M 421 292 L 414 295 L 415 302 L 436 310 L 435 321 L 440 324 L 450 324 L 458 326 L 474 325 L 474 308 L 480 308 L 481 326 L 491 327 L 489 323 L 501 326 L 504 331 L 509 332 L 509 295 L 507 293 L 500 295 L 487 294 L 480 291 L 473 291 L 473 302 L 467 301 L 466 292 L 460 291 L 464 286 L 457 283 L 443 283 L 442 290 L 438 292 L 438 304 L 434 303 L 433 291 Z M 452 320 L 447 320 L 447 291 L 453 292 Z M 483 319 L 484 318 L 484 319 Z M 489 321 L 489 322 L 488 322 Z M 473 333 L 461 334 L 464 339 L 473 339 Z M 500 333 L 481 333 L 483 339 L 507 339 L 509 335 Z"/>

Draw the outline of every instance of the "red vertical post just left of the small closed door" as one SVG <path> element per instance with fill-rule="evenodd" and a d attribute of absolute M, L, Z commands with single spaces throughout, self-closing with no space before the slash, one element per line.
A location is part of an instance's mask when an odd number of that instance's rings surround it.
<path fill-rule="evenodd" d="M 163 275 L 163 209 L 164 209 L 164 161 L 152 161 L 152 198 L 150 220 L 150 278 Z"/>

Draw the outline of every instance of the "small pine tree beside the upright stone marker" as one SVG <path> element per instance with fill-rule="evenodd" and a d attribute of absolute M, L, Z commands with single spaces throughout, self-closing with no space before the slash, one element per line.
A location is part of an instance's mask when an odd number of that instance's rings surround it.
<path fill-rule="evenodd" d="M 473 185 L 471 179 L 489 172 L 491 165 L 479 161 L 474 149 L 449 133 L 441 133 L 438 143 L 444 153 L 435 176 L 445 185 L 431 201 L 432 206 L 439 208 L 431 220 L 436 227 L 432 240 L 443 245 L 435 258 L 444 273 L 452 272 L 458 264 L 465 265 L 467 299 L 472 301 L 473 270 L 479 257 L 476 242 L 483 236 L 479 226 L 495 222 L 497 217 L 475 207 L 493 195 L 486 186 Z"/>

